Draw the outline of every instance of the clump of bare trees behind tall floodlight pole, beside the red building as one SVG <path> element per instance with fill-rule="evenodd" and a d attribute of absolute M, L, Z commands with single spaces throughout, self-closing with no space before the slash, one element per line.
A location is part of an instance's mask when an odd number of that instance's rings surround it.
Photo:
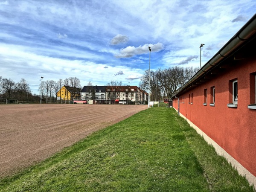
<path fill-rule="evenodd" d="M 150 71 L 150 100 L 170 99 L 195 73 L 199 67 L 169 67 L 168 69 L 159 68 Z M 149 70 L 145 70 L 140 79 L 140 87 L 148 92 Z"/>

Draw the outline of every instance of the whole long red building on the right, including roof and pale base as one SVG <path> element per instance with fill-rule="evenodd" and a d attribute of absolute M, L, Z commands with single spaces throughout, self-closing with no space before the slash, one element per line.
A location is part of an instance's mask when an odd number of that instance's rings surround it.
<path fill-rule="evenodd" d="M 256 15 L 172 100 L 180 116 L 256 186 Z"/>

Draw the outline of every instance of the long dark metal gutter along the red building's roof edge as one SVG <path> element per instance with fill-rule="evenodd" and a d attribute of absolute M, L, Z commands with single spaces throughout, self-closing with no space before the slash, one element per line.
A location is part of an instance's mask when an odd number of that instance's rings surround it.
<path fill-rule="evenodd" d="M 232 55 L 245 41 L 256 34 L 256 14 L 222 47 L 203 67 L 187 81 L 172 98 L 181 93 L 186 87 L 192 85 L 200 77 L 220 63 L 221 60 Z"/>

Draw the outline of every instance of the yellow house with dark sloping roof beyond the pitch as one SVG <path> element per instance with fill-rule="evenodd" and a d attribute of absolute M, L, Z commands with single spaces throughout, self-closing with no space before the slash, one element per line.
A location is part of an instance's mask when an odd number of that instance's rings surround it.
<path fill-rule="evenodd" d="M 77 87 L 70 87 L 64 85 L 63 87 L 61 87 L 61 90 L 57 92 L 57 97 L 60 97 L 61 100 L 64 101 L 80 99 L 80 89 Z"/>

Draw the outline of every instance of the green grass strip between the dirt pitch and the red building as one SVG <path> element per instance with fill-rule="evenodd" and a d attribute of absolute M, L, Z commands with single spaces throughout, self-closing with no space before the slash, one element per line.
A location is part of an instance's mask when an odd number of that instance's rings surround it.
<path fill-rule="evenodd" d="M 173 108 L 153 107 L 0 180 L 0 191 L 253 192 Z"/>

